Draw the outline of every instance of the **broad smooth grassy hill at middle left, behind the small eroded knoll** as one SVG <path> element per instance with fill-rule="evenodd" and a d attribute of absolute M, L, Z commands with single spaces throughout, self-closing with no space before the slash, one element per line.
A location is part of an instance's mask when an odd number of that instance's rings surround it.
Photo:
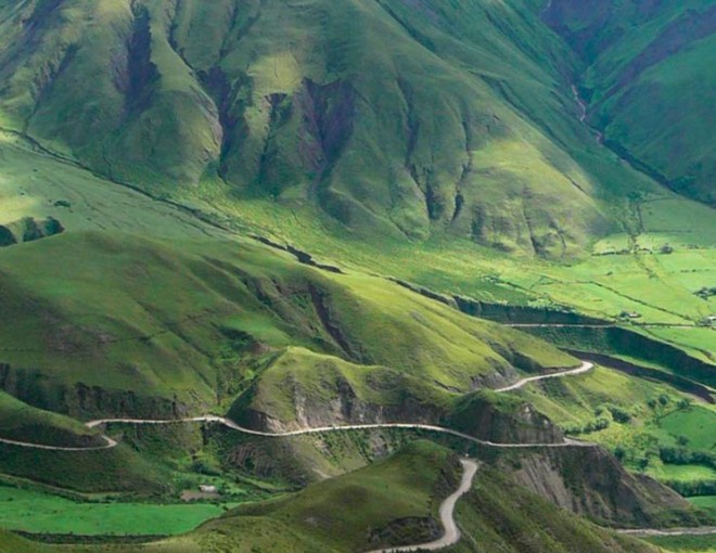
<path fill-rule="evenodd" d="M 397 284 L 251 242 L 67 232 L 2 250 L 0 282 L 2 388 L 80 417 L 206 412 L 287 346 L 463 393 L 576 364 Z"/>

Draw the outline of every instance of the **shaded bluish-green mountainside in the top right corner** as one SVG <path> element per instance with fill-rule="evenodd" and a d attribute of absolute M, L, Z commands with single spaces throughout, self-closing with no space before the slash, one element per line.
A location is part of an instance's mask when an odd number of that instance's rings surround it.
<path fill-rule="evenodd" d="M 545 20 L 581 57 L 589 121 L 606 143 L 716 206 L 713 2 L 554 0 Z"/>

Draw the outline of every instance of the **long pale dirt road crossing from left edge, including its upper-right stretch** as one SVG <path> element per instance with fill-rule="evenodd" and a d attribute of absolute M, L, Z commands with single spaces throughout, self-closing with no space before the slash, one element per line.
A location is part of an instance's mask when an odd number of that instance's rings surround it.
<path fill-rule="evenodd" d="M 551 374 L 545 374 L 540 376 L 532 376 L 528 378 L 523 378 L 520 382 L 507 386 L 506 388 L 498 389 L 496 391 L 499 393 L 506 393 L 506 391 L 512 391 L 519 388 L 522 388 L 523 386 L 540 381 L 544 378 L 559 378 L 559 377 L 564 377 L 564 376 L 574 376 L 577 374 L 583 374 L 591 369 L 593 369 L 593 364 L 588 362 L 588 361 L 583 361 L 581 365 L 577 369 L 570 369 L 566 371 L 561 371 L 561 372 L 555 372 Z M 350 424 L 350 425 L 335 425 L 335 426 L 319 426 L 316 428 L 302 428 L 298 430 L 290 430 L 290 432 L 277 432 L 277 433 L 270 433 L 270 432 L 261 432 L 261 430 L 254 430 L 251 428 L 244 428 L 243 426 L 239 426 L 236 423 L 231 421 L 230 419 L 226 419 L 222 416 L 216 416 L 216 415 L 205 415 L 205 416 L 194 416 L 194 417 L 189 417 L 189 419 L 170 419 L 170 420 L 151 420 L 151 419 L 101 419 L 98 421 L 90 421 L 86 423 L 86 426 L 88 428 L 95 428 L 98 426 L 103 426 L 105 424 L 135 424 L 135 425 L 157 425 L 157 424 L 179 424 L 179 423 L 214 423 L 214 424 L 221 424 L 228 428 L 231 428 L 233 430 L 241 432 L 243 434 L 250 434 L 253 436 L 263 436 L 267 438 L 286 438 L 286 437 L 293 437 L 293 436 L 305 436 L 309 434 L 322 434 L 322 433 L 328 433 L 328 432 L 343 432 L 343 430 L 370 430 L 370 429 L 389 429 L 389 428 L 405 428 L 405 429 L 420 429 L 420 430 L 429 430 L 429 432 L 435 432 L 439 434 L 447 434 L 450 436 L 456 436 L 458 438 L 462 438 L 469 441 L 472 441 L 473 443 L 478 443 L 481 446 L 488 446 L 488 447 L 494 447 L 494 448 L 506 448 L 506 449 L 527 449 L 527 448 L 565 448 L 565 447 L 594 447 L 593 443 L 589 443 L 586 441 L 578 441 L 578 440 L 573 440 L 570 438 L 565 438 L 563 442 L 549 442 L 549 443 L 497 443 L 494 441 L 489 440 L 482 440 L 480 438 L 475 438 L 474 436 L 471 436 L 469 434 L 464 434 L 458 430 L 453 430 L 451 428 L 444 428 L 443 426 L 436 426 L 432 424 L 409 424 L 409 423 L 375 423 L 375 424 Z M 117 442 L 110 438 L 108 436 L 102 435 L 102 438 L 105 441 L 104 446 L 94 446 L 94 447 L 86 447 L 86 448 L 66 448 L 66 447 L 60 447 L 60 446 L 42 446 L 39 443 L 30 443 L 30 442 L 24 442 L 24 441 L 17 441 L 17 440 L 10 440 L 10 439 L 4 439 L 0 438 L 0 442 L 2 443 L 9 443 L 11 446 L 20 446 L 20 447 L 25 447 L 25 448 L 35 448 L 35 449 L 43 449 L 43 450 L 50 450 L 50 451 L 98 451 L 98 450 L 103 450 L 103 449 L 111 449 L 117 446 Z"/>

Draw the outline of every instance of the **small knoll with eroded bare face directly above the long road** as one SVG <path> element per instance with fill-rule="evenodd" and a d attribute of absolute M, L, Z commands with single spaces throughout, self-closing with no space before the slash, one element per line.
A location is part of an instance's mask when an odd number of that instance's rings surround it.
<path fill-rule="evenodd" d="M 488 374 L 495 382 L 499 375 Z M 475 378 L 475 385 L 481 377 Z M 424 374 L 358 366 L 291 348 L 231 408 L 248 427 L 285 432 L 334 424 L 440 423 L 497 442 L 553 442 L 562 435 L 519 399 L 464 394 Z"/>

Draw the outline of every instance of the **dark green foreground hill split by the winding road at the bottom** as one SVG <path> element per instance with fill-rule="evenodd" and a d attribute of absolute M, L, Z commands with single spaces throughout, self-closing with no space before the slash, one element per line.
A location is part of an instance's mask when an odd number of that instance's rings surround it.
<path fill-rule="evenodd" d="M 535 553 L 656 551 L 577 519 L 491 468 L 481 471 L 473 490 L 458 504 L 464 538 L 451 551 L 493 546 Z M 297 494 L 231 511 L 187 536 L 143 548 L 107 545 L 103 551 L 348 552 L 420 541 L 439 532 L 435 526 L 438 505 L 456 488 L 460 474 L 448 450 L 417 442 L 386 461 Z M 336 504 L 342 509 L 336 510 Z M 3 535 L 3 539 L 12 538 Z"/>

